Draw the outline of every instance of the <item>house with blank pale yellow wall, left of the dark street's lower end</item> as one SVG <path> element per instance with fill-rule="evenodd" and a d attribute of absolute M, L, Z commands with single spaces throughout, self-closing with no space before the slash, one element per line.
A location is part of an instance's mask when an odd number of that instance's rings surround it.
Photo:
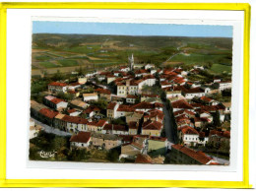
<path fill-rule="evenodd" d="M 164 156 L 167 152 L 167 138 L 150 136 L 148 139 L 148 154 Z"/>

